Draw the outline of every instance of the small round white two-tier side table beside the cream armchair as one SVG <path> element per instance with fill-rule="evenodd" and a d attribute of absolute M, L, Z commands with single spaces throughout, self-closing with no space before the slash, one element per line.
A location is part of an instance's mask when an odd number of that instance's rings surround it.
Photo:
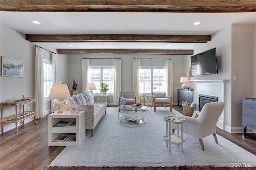
<path fill-rule="evenodd" d="M 169 118 L 174 118 L 173 120 L 169 120 Z M 166 141 L 166 145 L 168 145 L 169 151 L 171 151 L 171 143 L 174 145 L 180 145 L 180 151 L 182 151 L 183 142 L 185 142 L 185 138 L 183 137 L 183 127 L 182 123 L 185 121 L 178 119 L 176 116 L 168 116 L 164 117 L 164 121 L 166 122 L 166 135 L 164 135 L 164 141 Z M 171 133 L 171 124 L 177 125 L 177 134 Z M 180 133 L 180 134 L 179 134 Z"/>

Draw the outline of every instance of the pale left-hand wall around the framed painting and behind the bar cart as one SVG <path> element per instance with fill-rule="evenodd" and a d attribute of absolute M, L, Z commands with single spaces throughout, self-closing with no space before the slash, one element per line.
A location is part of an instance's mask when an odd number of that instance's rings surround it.
<path fill-rule="evenodd" d="M 0 55 L 19 59 L 24 61 L 24 77 L 6 77 L 0 76 L 0 101 L 5 102 L 6 100 L 18 100 L 25 97 L 31 96 L 34 98 L 34 72 L 35 72 L 35 55 L 36 47 L 34 44 L 25 40 L 25 35 L 20 33 L 4 24 L 0 25 L 1 40 L 0 40 Z M 44 44 L 39 45 L 52 52 L 57 52 L 56 49 L 46 46 Z M 45 57 L 50 57 L 50 53 L 44 51 Z M 67 55 L 57 55 L 58 64 L 58 79 L 61 81 L 67 81 L 68 79 L 68 57 Z M 46 111 L 50 107 L 50 102 L 46 102 Z M 33 108 L 33 105 L 25 105 L 25 111 L 27 107 Z M 20 110 L 21 108 L 19 108 Z M 15 107 L 4 107 L 3 116 L 12 115 L 15 113 Z M 25 123 L 32 121 L 33 119 L 26 119 Z M 18 125 L 22 123 L 19 122 Z M 14 123 L 4 123 L 4 131 L 8 131 L 15 127 Z"/>

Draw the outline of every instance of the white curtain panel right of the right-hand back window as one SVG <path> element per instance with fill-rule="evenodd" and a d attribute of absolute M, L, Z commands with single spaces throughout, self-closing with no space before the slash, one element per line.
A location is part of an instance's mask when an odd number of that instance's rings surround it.
<path fill-rule="evenodd" d="M 173 96 L 173 66 L 172 60 L 165 60 L 166 68 L 166 95 Z M 172 100 L 173 101 L 173 100 Z"/>

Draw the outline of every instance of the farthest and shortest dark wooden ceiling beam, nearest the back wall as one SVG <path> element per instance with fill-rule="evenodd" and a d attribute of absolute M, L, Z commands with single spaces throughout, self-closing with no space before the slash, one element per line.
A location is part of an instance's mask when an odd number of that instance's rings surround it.
<path fill-rule="evenodd" d="M 58 54 L 157 54 L 193 55 L 194 50 L 58 49 Z"/>

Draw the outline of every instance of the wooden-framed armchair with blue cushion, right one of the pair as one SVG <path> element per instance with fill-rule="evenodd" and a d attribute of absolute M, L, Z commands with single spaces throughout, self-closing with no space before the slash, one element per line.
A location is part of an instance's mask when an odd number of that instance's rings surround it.
<path fill-rule="evenodd" d="M 172 96 L 166 96 L 166 92 L 152 92 L 152 104 L 154 104 L 154 111 L 156 111 L 156 105 L 170 105 L 170 111 L 172 111 Z"/>

